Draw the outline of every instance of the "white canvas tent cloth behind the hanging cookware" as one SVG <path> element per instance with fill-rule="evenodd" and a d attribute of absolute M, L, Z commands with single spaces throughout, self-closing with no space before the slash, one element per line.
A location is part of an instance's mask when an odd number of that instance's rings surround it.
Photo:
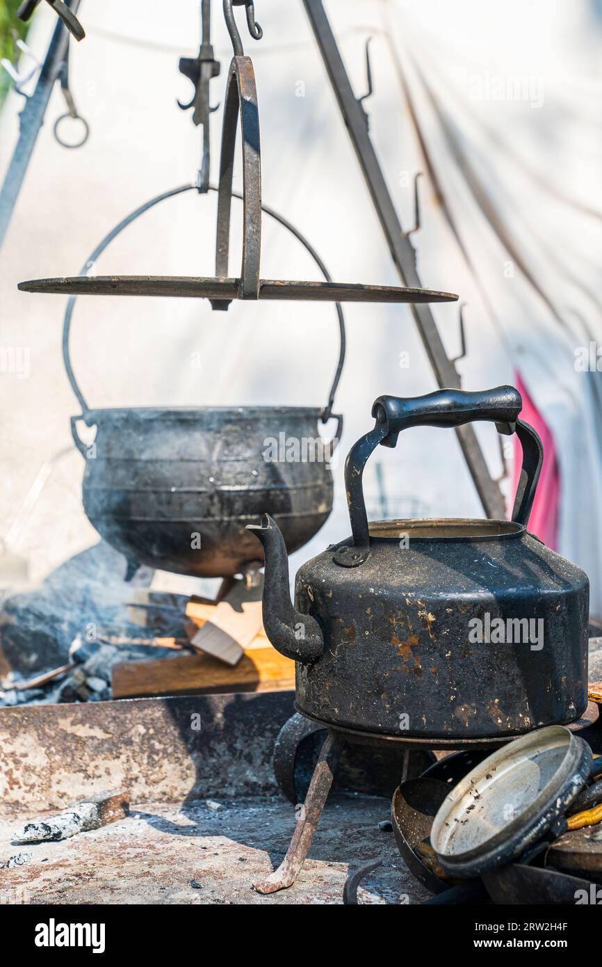
<path fill-rule="evenodd" d="M 230 47 L 214 6 L 222 62 L 217 100 Z M 455 291 L 468 304 L 463 386 L 512 382 L 520 368 L 559 451 L 559 549 L 588 570 L 592 608 L 602 612 L 600 374 L 575 368 L 575 350 L 598 339 L 601 328 L 598 5 L 326 6 L 358 95 L 366 83 L 364 44 L 373 38 L 374 94 L 365 106 L 404 225 L 413 220 L 413 176 L 425 170 L 424 152 L 437 176 L 437 187 L 432 177 L 422 179 L 422 228 L 414 241 L 423 284 Z M 257 74 L 265 201 L 299 225 L 333 278 L 397 284 L 301 2 L 257 0 L 256 7 L 264 40 L 245 45 Z M 199 133 L 176 106 L 189 94 L 178 57 L 194 56 L 198 47 L 196 0 L 168 7 L 84 0 L 81 19 L 87 37 L 73 45 L 72 86 L 90 140 L 80 151 L 53 140 L 52 123 L 64 109 L 57 88 L 0 251 L 0 342 L 21 347 L 29 359 L 27 378 L 23 371 L 0 374 L 3 534 L 43 461 L 70 447 L 76 413 L 60 352 L 66 300 L 18 293 L 16 282 L 78 272 L 115 222 L 190 180 L 200 158 Z M 29 43 L 39 55 L 53 22 L 49 11 L 36 15 Z M 11 95 L 0 117 L 0 172 L 14 146 L 19 107 Z M 475 196 L 475 181 L 502 222 L 503 240 Z M 214 220 L 213 197 L 190 193 L 165 202 L 107 250 L 99 272 L 210 275 Z M 238 252 L 235 241 L 234 259 Z M 268 223 L 262 258 L 268 278 L 315 278 L 297 244 Z M 457 313 L 456 306 L 434 307 L 450 355 L 459 352 Z M 436 387 L 408 308 L 350 306 L 346 317 L 348 359 L 337 398 L 346 417 L 342 454 L 370 425 L 375 396 Z M 79 300 L 73 319 L 73 363 L 95 406 L 320 405 L 336 348 L 328 306 L 239 305 L 212 314 L 190 300 L 90 298 Z M 197 354 L 200 370 L 192 362 Z M 494 428 L 478 425 L 477 433 L 499 474 Z M 482 513 L 453 433 L 409 431 L 379 459 L 390 513 Z M 82 469 L 74 450 L 56 462 L 18 535 L 14 550 L 29 559 L 34 580 L 97 540 L 80 505 Z M 334 511 L 295 555 L 293 570 L 348 533 L 342 461 L 334 474 Z M 367 484 L 378 515 L 374 470 Z"/>

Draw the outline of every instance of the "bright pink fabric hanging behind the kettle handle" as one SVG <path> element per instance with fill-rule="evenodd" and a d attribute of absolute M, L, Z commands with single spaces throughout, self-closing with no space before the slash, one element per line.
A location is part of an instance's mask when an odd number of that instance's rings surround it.
<path fill-rule="evenodd" d="M 530 512 L 529 530 L 553 550 L 558 550 L 559 541 L 559 499 L 560 475 L 559 464 L 554 445 L 554 437 L 548 425 L 539 413 L 527 392 L 520 374 L 516 373 L 516 388 L 523 397 L 523 412 L 521 418 L 530 424 L 541 437 L 543 444 L 543 466 L 537 485 L 537 492 Z M 514 473 L 512 493 L 516 493 L 519 470 L 523 459 L 523 448 L 517 436 L 514 436 Z"/>

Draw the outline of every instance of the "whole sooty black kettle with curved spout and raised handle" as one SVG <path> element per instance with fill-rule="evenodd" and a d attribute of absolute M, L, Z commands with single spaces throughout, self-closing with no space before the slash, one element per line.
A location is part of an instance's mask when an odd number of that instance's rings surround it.
<path fill-rule="evenodd" d="M 395 737 L 505 737 L 570 722 L 588 704 L 588 577 L 527 531 L 543 458 L 522 400 L 505 386 L 381 396 L 352 447 L 352 537 L 308 561 L 288 590 L 282 536 L 251 526 L 266 556 L 264 625 L 297 660 L 297 708 L 339 727 Z M 512 520 L 368 524 L 362 472 L 410 426 L 493 421 L 516 432 L 523 468 Z"/>

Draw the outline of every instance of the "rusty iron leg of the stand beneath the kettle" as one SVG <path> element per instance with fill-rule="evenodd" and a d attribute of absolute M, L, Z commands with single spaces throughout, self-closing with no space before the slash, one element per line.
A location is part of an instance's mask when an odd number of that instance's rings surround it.
<path fill-rule="evenodd" d="M 326 801 L 329 798 L 330 786 L 344 745 L 343 738 L 337 732 L 329 729 L 316 768 L 313 771 L 301 815 L 297 820 L 297 826 L 286 856 L 267 880 L 253 884 L 258 893 L 275 894 L 278 890 L 285 890 L 295 883 L 311 847 L 324 806 L 326 806 Z"/>

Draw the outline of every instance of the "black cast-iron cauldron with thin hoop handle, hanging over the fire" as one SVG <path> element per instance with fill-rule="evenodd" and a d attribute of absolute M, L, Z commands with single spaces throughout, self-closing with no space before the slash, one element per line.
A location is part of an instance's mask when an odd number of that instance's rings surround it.
<path fill-rule="evenodd" d="M 90 255 L 82 275 L 132 220 L 164 198 L 194 187 L 167 191 L 131 213 Z M 330 280 L 301 233 L 272 209 L 263 209 L 301 241 Z M 309 541 L 332 509 L 329 459 L 342 427 L 342 417 L 333 417 L 332 406 L 345 356 L 340 305 L 335 307 L 339 360 L 323 410 L 305 406 L 92 410 L 75 380 L 69 354 L 75 298 L 69 300 L 65 316 L 63 358 L 82 408 L 81 416 L 72 418 L 72 434 L 86 459 L 84 510 L 100 536 L 126 555 L 129 573 L 146 564 L 196 576 L 235 574 L 245 564 L 261 560 L 261 549 L 245 525 L 266 509 L 278 521 L 289 552 Z M 322 441 L 319 425 L 332 417 L 337 426 L 330 446 Z M 80 439 L 79 421 L 97 427 L 94 444 Z"/>

